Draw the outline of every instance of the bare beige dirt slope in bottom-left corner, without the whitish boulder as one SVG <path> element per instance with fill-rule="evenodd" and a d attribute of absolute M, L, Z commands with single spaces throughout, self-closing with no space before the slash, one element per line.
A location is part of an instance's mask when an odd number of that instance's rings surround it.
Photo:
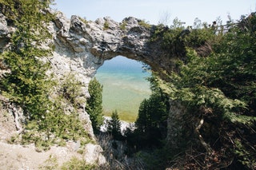
<path fill-rule="evenodd" d="M 66 147 L 51 147 L 47 152 L 37 152 L 34 144 L 8 144 L 16 133 L 14 117 L 0 107 L 0 170 L 31 170 L 58 167 L 71 157 L 82 157 L 72 144 Z"/>

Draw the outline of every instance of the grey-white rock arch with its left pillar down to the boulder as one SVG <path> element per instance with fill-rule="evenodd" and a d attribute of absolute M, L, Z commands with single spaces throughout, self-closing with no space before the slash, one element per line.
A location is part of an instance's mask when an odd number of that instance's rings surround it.
<path fill-rule="evenodd" d="M 90 97 L 88 85 L 97 69 L 104 61 L 118 55 L 142 61 L 157 72 L 170 70 L 174 66 L 174 58 L 170 58 L 158 42 L 150 42 L 155 26 L 147 26 L 137 18 L 125 18 L 121 23 L 114 22 L 110 18 L 99 18 L 95 22 L 88 22 L 78 16 L 72 16 L 68 20 L 62 13 L 57 12 L 56 18 L 48 28 L 53 35 L 49 43 L 54 45 L 54 52 L 52 56 L 43 60 L 50 61 L 52 67 L 49 74 L 54 73 L 58 81 L 62 81 L 68 73 L 74 74 L 82 83 L 81 98 Z M 13 31 L 14 28 L 9 25 L 6 17 L 0 14 L 1 52 L 8 48 L 10 34 Z M 1 67 L 0 77 L 5 71 L 7 72 Z M 86 131 L 94 139 L 86 108 L 79 109 L 79 113 L 81 119 L 87 122 Z M 87 157 L 86 161 L 93 164 L 101 157 L 101 164 L 104 164 L 102 149 L 99 146 L 88 145 L 86 152 L 90 157 L 90 159 Z"/>

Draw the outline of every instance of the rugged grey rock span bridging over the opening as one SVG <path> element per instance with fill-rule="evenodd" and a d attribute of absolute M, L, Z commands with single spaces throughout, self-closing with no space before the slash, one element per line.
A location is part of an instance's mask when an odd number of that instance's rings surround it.
<path fill-rule="evenodd" d="M 52 32 L 55 53 L 80 61 L 93 75 L 104 61 L 119 55 L 142 61 L 154 71 L 170 70 L 173 59 L 158 42 L 150 42 L 154 29 L 137 18 L 125 18 L 119 23 L 110 18 L 87 22 L 72 16 L 68 21 L 59 13 Z"/>

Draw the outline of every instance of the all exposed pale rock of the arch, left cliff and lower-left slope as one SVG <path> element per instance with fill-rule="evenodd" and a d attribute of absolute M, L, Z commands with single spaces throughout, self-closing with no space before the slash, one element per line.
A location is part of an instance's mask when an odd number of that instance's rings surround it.
<path fill-rule="evenodd" d="M 94 77 L 97 69 L 106 60 L 122 55 L 130 59 L 142 61 L 157 72 L 170 70 L 174 67 L 174 58 L 168 57 L 168 53 L 160 48 L 158 42 L 150 42 L 154 34 L 155 26 L 150 26 L 137 18 L 125 18 L 121 23 L 114 22 L 110 18 L 99 18 L 95 22 L 85 21 L 78 16 L 72 16 L 70 20 L 57 12 L 56 18 L 48 27 L 53 39 L 49 43 L 54 44 L 54 52 L 50 57 L 43 60 L 50 61 L 51 69 L 49 74 L 53 73 L 54 78 L 62 81 L 67 73 L 74 74 L 75 78 L 82 83 L 82 92 L 79 97 L 86 99 L 90 97 L 88 85 L 90 79 Z M 3 14 L 0 14 L 0 49 L 8 49 L 10 35 L 15 28 Z M 1 65 L 0 65 L 1 66 Z M 0 77 L 8 72 L 1 68 Z M 1 96 L 2 97 L 2 96 Z M 63 154 L 65 159 L 77 155 L 75 142 L 71 142 L 67 148 L 53 148 L 50 152 L 36 153 L 34 148 L 22 148 L 20 145 L 6 144 L 10 134 L 15 134 L 22 127 L 18 127 L 22 122 L 22 109 L 10 104 L 8 99 L 2 97 L 1 110 L 1 156 L 5 157 L 7 164 L 9 159 L 16 157 L 14 168 L 38 168 L 39 162 L 33 159 L 34 156 L 42 157 L 40 164 L 45 162 L 51 155 L 61 159 Z M 83 106 L 79 110 L 82 119 L 86 120 L 86 131 L 94 140 L 94 132 L 90 124 L 90 117 Z M 8 128 L 6 128 L 8 127 Z M 87 147 L 88 146 L 88 147 Z M 88 144 L 85 148 L 85 160 L 90 164 L 105 164 L 106 160 L 102 157 L 102 148 L 95 144 Z M 14 150 L 14 154 L 10 154 Z M 33 152 L 33 154 L 19 156 L 23 152 Z M 65 153 L 64 153 L 65 152 Z M 32 157 L 31 157 L 32 156 Z M 9 164 L 9 163 L 8 163 Z M 11 166 L 9 164 L 9 166 Z"/>

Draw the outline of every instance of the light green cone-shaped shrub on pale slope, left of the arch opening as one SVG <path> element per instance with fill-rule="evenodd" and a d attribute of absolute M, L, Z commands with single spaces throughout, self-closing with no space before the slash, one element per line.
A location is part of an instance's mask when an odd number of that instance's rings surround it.
<path fill-rule="evenodd" d="M 74 75 L 69 74 L 60 85 L 58 96 L 49 102 L 50 109 L 44 117 L 38 120 L 31 120 L 27 125 L 28 132 L 23 138 L 30 136 L 30 133 L 41 132 L 41 140 L 51 140 L 51 143 L 62 144 L 62 140 L 80 140 L 82 144 L 90 142 L 83 127 L 86 122 L 79 120 L 77 108 L 83 105 L 83 101 L 78 100 L 78 94 L 82 91 L 82 85 L 74 79 Z M 69 113 L 66 107 L 73 107 Z M 31 127 L 30 127 L 31 126 Z M 34 139 L 33 139 L 34 140 Z"/>

